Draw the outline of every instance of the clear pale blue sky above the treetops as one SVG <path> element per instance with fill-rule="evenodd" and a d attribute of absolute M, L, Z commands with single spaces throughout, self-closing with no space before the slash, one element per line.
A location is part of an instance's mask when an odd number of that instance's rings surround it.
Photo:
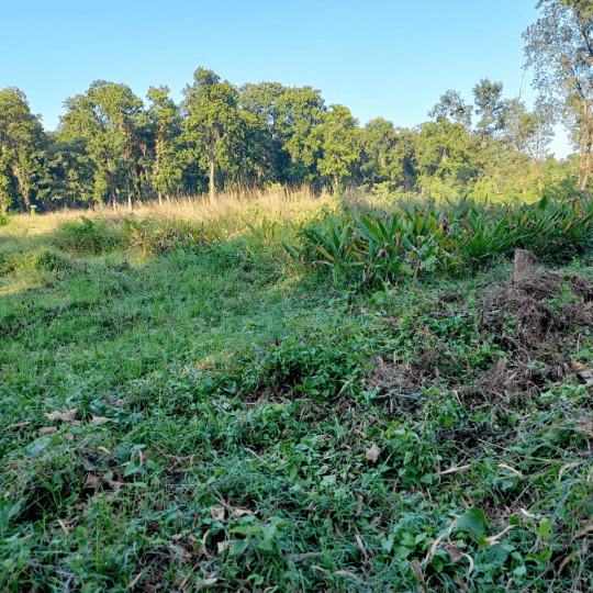
<path fill-rule="evenodd" d="M 198 66 L 234 85 L 311 85 L 363 125 L 383 116 L 412 127 L 448 89 L 472 101 L 481 79 L 506 98 L 534 99 L 522 32 L 536 0 L 214 0 L 100 3 L 7 2 L 0 27 L 0 88 L 19 87 L 46 130 L 66 98 L 93 80 L 124 82 L 145 99 L 174 98 Z M 552 152 L 569 152 L 558 137 Z"/>

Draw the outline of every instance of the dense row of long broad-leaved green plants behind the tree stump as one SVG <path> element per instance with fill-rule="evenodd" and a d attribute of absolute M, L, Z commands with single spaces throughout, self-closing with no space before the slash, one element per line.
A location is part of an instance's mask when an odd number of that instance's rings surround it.
<path fill-rule="evenodd" d="M 288 253 L 332 270 L 335 281 L 362 284 L 416 279 L 421 273 L 474 270 L 516 248 L 567 260 L 591 243 L 591 199 L 484 204 L 463 199 L 394 213 L 328 214 L 299 233 Z"/>

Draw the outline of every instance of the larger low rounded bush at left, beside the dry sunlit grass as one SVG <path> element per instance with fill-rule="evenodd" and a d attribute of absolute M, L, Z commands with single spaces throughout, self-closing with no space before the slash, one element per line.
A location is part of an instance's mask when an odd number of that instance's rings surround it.
<path fill-rule="evenodd" d="M 80 216 L 64 223 L 55 232 L 53 243 L 64 251 L 101 255 L 122 247 L 125 239 L 107 219 Z"/>

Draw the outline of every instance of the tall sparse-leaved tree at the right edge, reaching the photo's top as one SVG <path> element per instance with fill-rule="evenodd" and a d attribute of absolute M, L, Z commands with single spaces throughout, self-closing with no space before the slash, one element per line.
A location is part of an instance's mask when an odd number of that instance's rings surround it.
<path fill-rule="evenodd" d="M 534 85 L 555 94 L 580 154 L 579 188 L 593 170 L 593 4 L 590 0 L 539 0 L 541 18 L 524 33 L 525 67 Z"/>

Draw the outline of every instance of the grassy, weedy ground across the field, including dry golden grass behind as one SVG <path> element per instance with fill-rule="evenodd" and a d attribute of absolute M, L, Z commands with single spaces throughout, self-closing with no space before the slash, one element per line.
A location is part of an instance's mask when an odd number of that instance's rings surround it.
<path fill-rule="evenodd" d="M 591 256 L 361 290 L 335 206 L 0 228 L 0 590 L 593 589 Z"/>

